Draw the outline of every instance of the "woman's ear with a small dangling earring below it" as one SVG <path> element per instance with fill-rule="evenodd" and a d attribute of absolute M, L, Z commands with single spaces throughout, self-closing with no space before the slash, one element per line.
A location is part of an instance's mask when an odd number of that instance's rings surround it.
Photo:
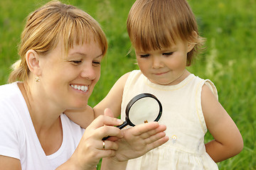
<path fill-rule="evenodd" d="M 39 56 L 35 50 L 28 50 L 26 52 L 26 62 L 28 64 L 28 69 L 33 72 L 33 74 L 40 74 Z"/>

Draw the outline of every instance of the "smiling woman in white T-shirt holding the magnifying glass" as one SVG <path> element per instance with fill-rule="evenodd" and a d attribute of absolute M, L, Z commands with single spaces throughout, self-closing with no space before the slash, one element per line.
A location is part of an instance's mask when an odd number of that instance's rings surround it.
<path fill-rule="evenodd" d="M 100 79 L 107 39 L 97 21 L 74 6 L 50 1 L 28 16 L 9 81 L 0 86 L 0 166 L 3 169 L 124 169 L 168 140 L 165 126 L 127 131 L 110 110 L 86 130 L 67 109 L 86 109 Z M 88 124 L 93 115 L 88 115 Z M 113 136 L 102 142 L 102 137 Z M 133 149 L 135 152 L 126 152 Z"/>

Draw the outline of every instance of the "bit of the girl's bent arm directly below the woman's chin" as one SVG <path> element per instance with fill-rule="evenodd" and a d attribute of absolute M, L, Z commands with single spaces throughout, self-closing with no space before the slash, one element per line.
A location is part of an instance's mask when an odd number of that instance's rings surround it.
<path fill-rule="evenodd" d="M 92 123 L 92 120 L 95 119 L 93 109 L 90 106 L 86 106 L 84 109 L 66 110 L 64 113 L 70 120 L 77 123 L 82 128 L 87 128 L 87 126 Z"/>

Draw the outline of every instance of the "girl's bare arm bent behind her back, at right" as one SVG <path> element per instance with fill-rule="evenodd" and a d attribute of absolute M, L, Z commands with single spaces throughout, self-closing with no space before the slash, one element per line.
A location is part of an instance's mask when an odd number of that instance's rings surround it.
<path fill-rule="evenodd" d="M 243 148 L 238 127 L 206 85 L 203 86 L 201 99 L 207 128 L 214 137 L 206 144 L 206 152 L 215 162 L 234 157 Z"/>

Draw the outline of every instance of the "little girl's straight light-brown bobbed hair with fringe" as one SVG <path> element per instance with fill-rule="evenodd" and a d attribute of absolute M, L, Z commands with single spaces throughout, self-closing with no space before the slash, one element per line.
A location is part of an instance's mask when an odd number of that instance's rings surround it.
<path fill-rule="evenodd" d="M 137 0 L 127 18 L 127 31 L 135 50 L 161 50 L 177 40 L 195 44 L 187 66 L 204 38 L 198 35 L 196 18 L 186 0 Z"/>

